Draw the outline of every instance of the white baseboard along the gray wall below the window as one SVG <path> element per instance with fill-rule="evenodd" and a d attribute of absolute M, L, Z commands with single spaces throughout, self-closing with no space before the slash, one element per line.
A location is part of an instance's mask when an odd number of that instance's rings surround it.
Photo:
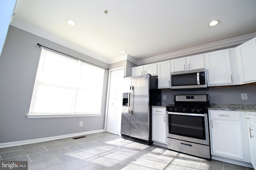
<path fill-rule="evenodd" d="M 100 132 L 104 132 L 104 129 L 100 129 L 100 130 L 96 130 L 96 131 L 72 133 L 72 134 L 60 135 L 60 136 L 54 136 L 54 137 L 30 139 L 30 140 L 25 140 L 25 141 L 0 143 L 0 148 L 14 147 L 14 146 L 19 146 L 19 145 L 27 145 L 27 144 L 32 144 L 32 143 L 46 142 L 46 141 L 53 141 L 53 140 L 57 140 L 57 139 L 64 139 L 64 138 L 69 138 L 69 137 L 76 137 L 76 136 L 82 136 L 82 135 L 88 135 L 88 134 L 100 133 Z"/>

